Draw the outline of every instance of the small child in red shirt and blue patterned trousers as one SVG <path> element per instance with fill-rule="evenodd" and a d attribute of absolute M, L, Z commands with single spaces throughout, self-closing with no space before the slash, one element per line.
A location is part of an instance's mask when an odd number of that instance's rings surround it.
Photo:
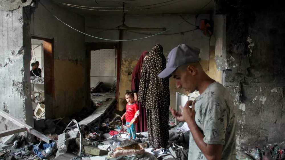
<path fill-rule="evenodd" d="M 137 110 L 139 110 L 137 104 L 134 103 L 134 97 L 135 95 L 133 92 L 127 92 L 125 94 L 125 98 L 128 102 L 126 106 L 127 111 L 125 114 L 123 114 L 121 120 L 123 120 L 124 117 L 126 117 L 126 125 L 130 124 L 131 120 L 135 117 L 135 113 L 137 112 Z M 137 122 L 137 120 L 135 122 Z M 137 138 L 135 122 L 131 124 L 129 127 L 127 127 L 127 132 L 129 133 L 129 140 L 131 140 L 132 138 L 133 139 Z"/>

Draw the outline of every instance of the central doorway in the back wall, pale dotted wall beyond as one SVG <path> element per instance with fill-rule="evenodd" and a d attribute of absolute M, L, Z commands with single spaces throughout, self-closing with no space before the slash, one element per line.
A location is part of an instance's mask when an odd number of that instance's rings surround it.
<path fill-rule="evenodd" d="M 102 91 L 97 90 L 97 92 L 111 92 L 114 93 L 114 97 L 117 98 L 118 87 L 119 87 L 118 82 L 120 75 L 120 62 L 121 62 L 121 49 L 119 47 L 119 43 L 85 43 L 85 44 L 86 44 L 86 60 L 87 60 L 86 95 L 91 96 L 91 89 L 100 85 L 100 83 L 103 82 Z M 90 103 L 91 100 L 90 98 L 88 98 L 87 104 Z"/>

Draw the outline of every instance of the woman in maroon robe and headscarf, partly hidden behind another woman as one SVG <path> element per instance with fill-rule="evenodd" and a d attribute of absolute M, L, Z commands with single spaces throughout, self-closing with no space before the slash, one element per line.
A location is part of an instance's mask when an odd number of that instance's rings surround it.
<path fill-rule="evenodd" d="M 132 91 L 135 94 L 134 101 L 139 106 L 139 117 L 138 123 L 136 126 L 137 132 L 146 132 L 147 131 L 147 121 L 146 121 L 146 108 L 141 105 L 141 102 L 138 101 L 138 91 L 141 79 L 141 69 L 143 65 L 143 61 L 146 59 L 148 55 L 147 51 L 144 51 L 141 57 L 139 58 L 132 74 Z"/>

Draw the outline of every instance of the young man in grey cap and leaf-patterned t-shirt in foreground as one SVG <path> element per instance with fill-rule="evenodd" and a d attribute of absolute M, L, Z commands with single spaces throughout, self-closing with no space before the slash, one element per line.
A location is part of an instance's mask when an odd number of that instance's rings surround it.
<path fill-rule="evenodd" d="M 200 49 L 185 44 L 175 47 L 167 57 L 166 69 L 158 77 L 176 79 L 177 88 L 200 96 L 188 101 L 172 115 L 190 128 L 188 159 L 233 159 L 236 156 L 236 116 L 227 89 L 211 79 L 199 63 Z"/>

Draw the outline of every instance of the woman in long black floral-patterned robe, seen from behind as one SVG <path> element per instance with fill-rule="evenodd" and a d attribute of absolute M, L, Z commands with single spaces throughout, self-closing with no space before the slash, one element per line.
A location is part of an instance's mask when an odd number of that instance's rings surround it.
<path fill-rule="evenodd" d="M 148 142 L 155 149 L 166 148 L 169 139 L 169 79 L 157 77 L 166 68 L 166 59 L 162 52 L 162 46 L 156 44 L 144 60 L 138 99 L 146 108 Z"/>

